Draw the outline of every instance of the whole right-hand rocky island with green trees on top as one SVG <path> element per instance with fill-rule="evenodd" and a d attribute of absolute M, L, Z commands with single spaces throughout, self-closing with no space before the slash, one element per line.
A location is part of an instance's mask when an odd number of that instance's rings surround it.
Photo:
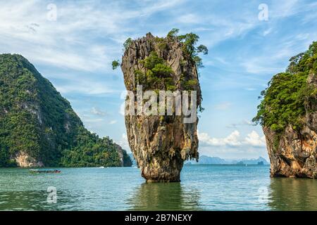
<path fill-rule="evenodd" d="M 271 176 L 317 178 L 317 42 L 292 57 L 261 98 L 254 122 L 266 136 Z"/>

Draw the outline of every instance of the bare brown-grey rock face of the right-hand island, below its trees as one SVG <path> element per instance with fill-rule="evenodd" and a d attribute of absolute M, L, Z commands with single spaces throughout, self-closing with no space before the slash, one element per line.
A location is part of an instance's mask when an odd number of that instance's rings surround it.
<path fill-rule="evenodd" d="M 307 82 L 317 87 L 317 76 L 309 75 Z M 317 104 L 316 99 L 308 99 L 305 105 L 304 127 L 295 131 L 289 125 L 279 143 L 275 143 L 274 131 L 263 127 L 268 155 L 271 160 L 271 176 L 317 178 Z"/>

